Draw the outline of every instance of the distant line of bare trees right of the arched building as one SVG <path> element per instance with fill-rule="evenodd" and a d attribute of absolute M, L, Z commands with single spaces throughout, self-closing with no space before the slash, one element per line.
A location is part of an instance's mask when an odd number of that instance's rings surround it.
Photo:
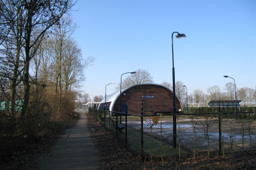
<path fill-rule="evenodd" d="M 172 89 L 169 83 L 163 82 L 162 85 Z M 207 106 L 208 101 L 219 100 L 241 100 L 241 106 L 256 106 L 256 90 L 250 87 L 236 87 L 232 82 L 226 83 L 222 90 L 219 85 L 213 85 L 207 88 L 207 93 L 203 90 L 196 89 L 192 92 L 189 90 L 188 85 L 184 85 L 181 81 L 176 82 L 176 94 L 184 106 L 186 106 L 186 97 L 188 97 L 188 106 L 202 107 Z"/>

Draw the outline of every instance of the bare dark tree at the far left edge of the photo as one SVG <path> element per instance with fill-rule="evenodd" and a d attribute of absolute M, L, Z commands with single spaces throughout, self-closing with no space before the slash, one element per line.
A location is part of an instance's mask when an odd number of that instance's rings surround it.
<path fill-rule="evenodd" d="M 23 55 L 25 22 L 21 2 L 1 1 L 1 76 L 10 80 L 11 116 L 15 116 L 16 87 L 20 84 L 20 62 Z M 21 60 L 21 61 L 20 61 Z"/>

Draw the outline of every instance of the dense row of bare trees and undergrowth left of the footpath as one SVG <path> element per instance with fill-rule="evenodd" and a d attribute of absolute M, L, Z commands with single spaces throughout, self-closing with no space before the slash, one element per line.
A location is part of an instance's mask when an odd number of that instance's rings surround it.
<path fill-rule="evenodd" d="M 71 0 L 0 3 L 1 135 L 47 135 L 76 117 L 75 89 L 94 57 L 83 59 L 72 38 Z"/>

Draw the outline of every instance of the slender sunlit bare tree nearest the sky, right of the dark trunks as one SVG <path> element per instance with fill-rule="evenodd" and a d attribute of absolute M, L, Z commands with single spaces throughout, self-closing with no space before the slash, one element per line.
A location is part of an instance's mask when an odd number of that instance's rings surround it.
<path fill-rule="evenodd" d="M 75 24 L 69 17 L 62 17 L 59 24 L 55 25 L 54 31 L 49 37 L 49 44 L 53 57 L 52 69 L 55 73 L 55 93 L 58 94 L 58 112 L 60 112 L 60 104 L 62 97 L 62 90 L 64 87 L 65 94 L 71 90 L 71 85 L 77 83 L 77 78 L 82 79 L 82 70 L 84 69 L 84 62 L 82 62 L 81 50 L 77 47 L 75 41 L 70 38 L 75 31 Z M 63 86 L 63 87 L 62 87 Z"/>

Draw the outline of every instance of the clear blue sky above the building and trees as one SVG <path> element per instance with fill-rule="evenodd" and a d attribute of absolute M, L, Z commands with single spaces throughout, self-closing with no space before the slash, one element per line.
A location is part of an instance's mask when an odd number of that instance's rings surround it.
<path fill-rule="evenodd" d="M 84 92 L 115 92 L 122 73 L 144 69 L 154 83 L 172 83 L 172 32 L 175 79 L 188 94 L 233 82 L 256 85 L 256 1 L 254 0 L 78 0 L 73 38 L 83 57 L 94 56 L 85 70 Z M 128 75 L 122 76 L 122 79 Z"/>

